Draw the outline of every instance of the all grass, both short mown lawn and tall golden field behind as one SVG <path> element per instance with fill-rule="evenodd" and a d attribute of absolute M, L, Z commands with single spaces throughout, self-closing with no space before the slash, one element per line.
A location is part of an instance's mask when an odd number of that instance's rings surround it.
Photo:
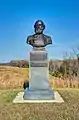
<path fill-rule="evenodd" d="M 50 85 L 61 94 L 64 103 L 13 104 L 28 79 L 28 68 L 0 66 L 0 120 L 79 120 L 79 89 L 72 89 L 79 88 L 79 80 L 64 81 L 50 75 Z"/>

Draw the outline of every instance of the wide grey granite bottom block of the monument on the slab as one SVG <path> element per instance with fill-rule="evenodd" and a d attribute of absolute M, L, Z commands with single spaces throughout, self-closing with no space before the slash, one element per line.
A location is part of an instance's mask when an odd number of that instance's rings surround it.
<path fill-rule="evenodd" d="M 42 90 L 29 90 L 24 92 L 24 100 L 53 100 L 54 92 L 50 89 Z"/>

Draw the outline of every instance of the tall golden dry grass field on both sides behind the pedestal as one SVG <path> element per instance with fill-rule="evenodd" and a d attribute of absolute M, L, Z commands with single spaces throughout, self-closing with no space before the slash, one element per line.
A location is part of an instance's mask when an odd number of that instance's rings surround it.
<path fill-rule="evenodd" d="M 49 78 L 53 88 L 79 88 L 78 79 Z M 0 89 L 22 88 L 25 80 L 29 80 L 28 68 L 0 66 Z"/>

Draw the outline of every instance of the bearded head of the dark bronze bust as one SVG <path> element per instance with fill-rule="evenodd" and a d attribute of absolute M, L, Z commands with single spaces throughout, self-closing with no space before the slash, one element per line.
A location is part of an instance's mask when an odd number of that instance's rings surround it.
<path fill-rule="evenodd" d="M 43 23 L 42 20 L 37 20 L 34 24 L 34 29 L 36 34 L 41 34 L 45 29 L 45 24 Z"/>

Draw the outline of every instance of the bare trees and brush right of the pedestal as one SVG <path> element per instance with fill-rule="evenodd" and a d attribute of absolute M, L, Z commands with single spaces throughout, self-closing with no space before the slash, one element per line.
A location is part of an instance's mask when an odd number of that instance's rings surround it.
<path fill-rule="evenodd" d="M 55 77 L 79 79 L 79 46 L 72 49 L 70 53 L 63 53 L 63 60 L 50 60 L 49 70 Z"/>

